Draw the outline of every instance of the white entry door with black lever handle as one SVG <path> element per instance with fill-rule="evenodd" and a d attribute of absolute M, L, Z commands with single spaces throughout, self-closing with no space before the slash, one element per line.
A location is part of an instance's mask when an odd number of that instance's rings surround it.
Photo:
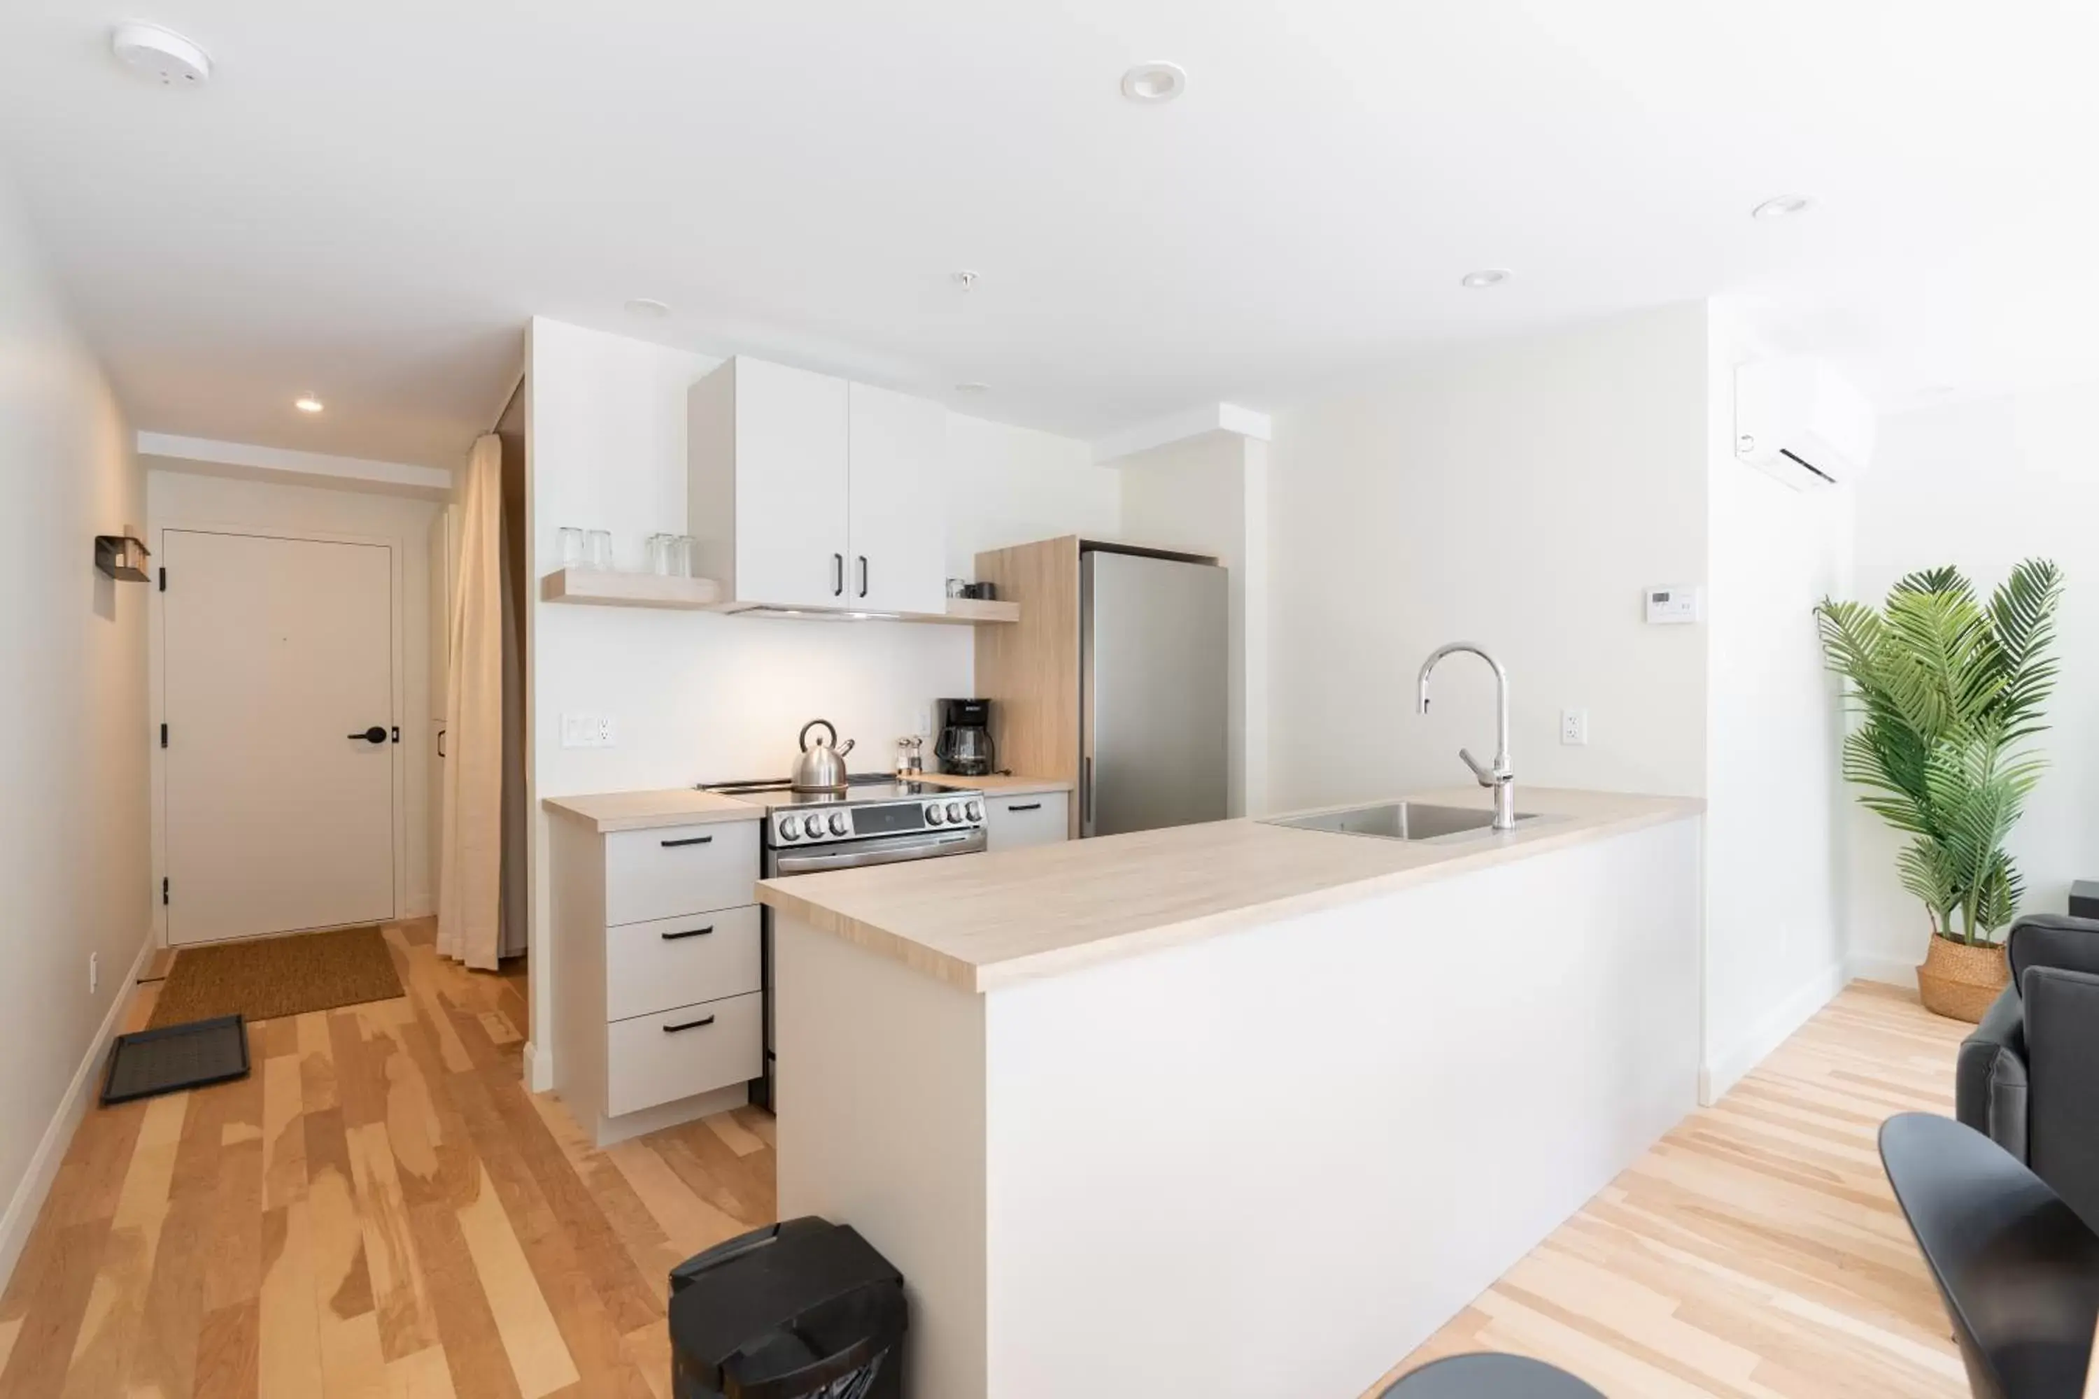
<path fill-rule="evenodd" d="M 166 531 L 168 942 L 395 914 L 393 550 Z"/>

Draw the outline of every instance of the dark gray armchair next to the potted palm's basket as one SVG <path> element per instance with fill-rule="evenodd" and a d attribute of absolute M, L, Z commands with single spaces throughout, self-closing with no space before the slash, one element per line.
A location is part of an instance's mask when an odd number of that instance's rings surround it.
<path fill-rule="evenodd" d="M 1960 1045 L 1954 1116 L 2099 1229 L 2099 919 L 2030 914 L 2011 986 Z"/>

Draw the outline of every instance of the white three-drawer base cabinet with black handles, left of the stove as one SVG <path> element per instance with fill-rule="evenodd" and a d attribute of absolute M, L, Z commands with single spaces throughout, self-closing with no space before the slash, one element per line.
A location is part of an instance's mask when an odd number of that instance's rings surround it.
<path fill-rule="evenodd" d="M 571 1116 L 602 1147 L 749 1101 L 758 820 L 621 831 L 563 814 L 548 835 L 554 1091 Z"/>

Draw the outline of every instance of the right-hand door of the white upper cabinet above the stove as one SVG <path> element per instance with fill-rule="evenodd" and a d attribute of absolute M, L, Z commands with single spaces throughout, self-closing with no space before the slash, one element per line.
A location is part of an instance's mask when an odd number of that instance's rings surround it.
<path fill-rule="evenodd" d="M 852 384 L 846 604 L 871 612 L 947 608 L 947 409 Z"/>

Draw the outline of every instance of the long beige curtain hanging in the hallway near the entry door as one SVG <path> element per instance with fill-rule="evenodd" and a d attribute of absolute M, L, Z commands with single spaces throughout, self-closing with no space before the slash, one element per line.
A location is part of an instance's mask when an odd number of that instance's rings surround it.
<path fill-rule="evenodd" d="M 493 971 L 504 933 L 506 661 L 504 449 L 493 432 L 479 438 L 466 457 L 458 568 L 451 589 L 437 950 Z"/>

